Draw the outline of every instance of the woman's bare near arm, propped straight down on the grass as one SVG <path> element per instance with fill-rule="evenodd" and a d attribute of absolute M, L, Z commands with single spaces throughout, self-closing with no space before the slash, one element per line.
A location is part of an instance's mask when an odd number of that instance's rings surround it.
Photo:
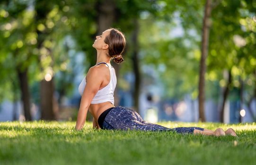
<path fill-rule="evenodd" d="M 85 124 L 88 108 L 103 82 L 103 76 L 99 76 L 100 67 L 91 67 L 86 75 L 86 86 L 82 94 L 80 107 L 77 115 L 76 130 L 81 130 Z"/>

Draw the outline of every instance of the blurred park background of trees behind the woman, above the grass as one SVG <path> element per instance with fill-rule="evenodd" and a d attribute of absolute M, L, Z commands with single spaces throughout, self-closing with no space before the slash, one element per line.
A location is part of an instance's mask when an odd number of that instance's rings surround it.
<path fill-rule="evenodd" d="M 127 39 L 115 106 L 152 123 L 256 121 L 256 0 L 1 0 L 0 121 L 75 121 L 110 27 Z"/>

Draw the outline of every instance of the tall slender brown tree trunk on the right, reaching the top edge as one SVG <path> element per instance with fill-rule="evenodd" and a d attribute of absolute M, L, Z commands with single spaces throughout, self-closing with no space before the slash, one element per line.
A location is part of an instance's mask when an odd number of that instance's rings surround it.
<path fill-rule="evenodd" d="M 203 17 L 203 35 L 202 35 L 202 48 L 201 48 L 201 61 L 200 61 L 200 74 L 199 74 L 199 120 L 205 122 L 204 116 L 204 75 L 206 73 L 206 58 L 208 54 L 209 44 L 209 30 L 210 30 L 210 15 L 211 15 L 212 0 L 207 0 L 205 4 L 204 17 Z"/>

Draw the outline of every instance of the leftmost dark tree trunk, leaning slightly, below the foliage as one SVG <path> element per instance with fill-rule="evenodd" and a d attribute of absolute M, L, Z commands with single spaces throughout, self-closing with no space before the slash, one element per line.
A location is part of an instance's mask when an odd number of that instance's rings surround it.
<path fill-rule="evenodd" d="M 28 88 L 28 81 L 27 81 L 27 68 L 22 71 L 19 66 L 17 66 L 17 73 L 18 79 L 20 84 L 21 90 L 21 99 L 23 102 L 23 110 L 25 114 L 26 121 L 31 121 L 31 114 L 30 114 L 30 94 Z"/>

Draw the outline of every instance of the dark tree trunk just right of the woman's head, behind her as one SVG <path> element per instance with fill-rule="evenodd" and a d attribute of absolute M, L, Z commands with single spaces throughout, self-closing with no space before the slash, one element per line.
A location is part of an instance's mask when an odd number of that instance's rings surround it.
<path fill-rule="evenodd" d="M 134 30 L 132 33 L 132 65 L 135 74 L 135 87 L 133 92 L 134 109 L 139 112 L 139 99 L 140 99 L 140 84 L 141 84 L 141 72 L 140 72 L 140 59 L 138 57 L 139 43 L 138 43 L 139 24 L 138 20 L 134 19 Z"/>

